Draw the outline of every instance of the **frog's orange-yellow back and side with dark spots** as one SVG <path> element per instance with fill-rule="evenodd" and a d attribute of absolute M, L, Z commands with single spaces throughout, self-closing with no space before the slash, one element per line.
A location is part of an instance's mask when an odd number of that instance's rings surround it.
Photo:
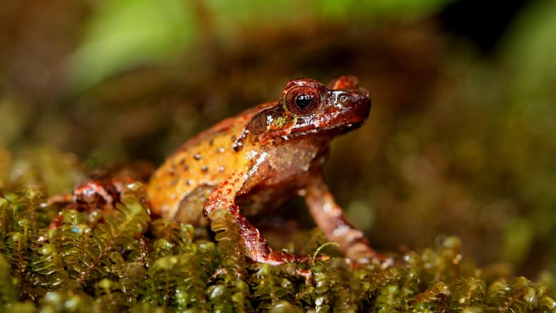
<path fill-rule="evenodd" d="M 147 186 L 154 214 L 175 218 L 184 206 L 202 211 L 204 199 L 243 161 L 242 152 L 233 148 L 254 114 L 275 103 L 266 103 L 227 118 L 206 129 L 179 147 L 154 172 Z M 192 210 L 185 208 L 186 211 Z M 193 220 L 197 217 L 192 216 Z M 193 220 L 181 221 L 193 223 Z"/>

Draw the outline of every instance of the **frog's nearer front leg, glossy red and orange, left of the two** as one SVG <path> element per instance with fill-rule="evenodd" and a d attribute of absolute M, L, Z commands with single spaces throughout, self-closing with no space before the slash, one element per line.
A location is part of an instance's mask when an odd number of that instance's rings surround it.
<path fill-rule="evenodd" d="M 236 195 L 248 178 L 250 178 L 248 172 L 236 170 L 220 186 L 215 188 L 204 204 L 203 214 L 205 218 L 211 223 L 213 211 L 220 208 L 228 209 L 231 215 L 234 216 L 234 223 L 238 225 L 240 230 L 247 257 L 255 262 L 268 264 L 308 262 L 309 257 L 295 257 L 284 251 L 272 250 L 259 230 L 240 213 L 239 207 L 236 205 Z"/>

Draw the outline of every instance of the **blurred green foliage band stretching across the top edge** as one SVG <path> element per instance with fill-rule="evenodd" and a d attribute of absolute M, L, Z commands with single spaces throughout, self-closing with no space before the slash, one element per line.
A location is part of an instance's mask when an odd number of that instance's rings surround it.
<path fill-rule="evenodd" d="M 423 17 L 452 1 L 104 1 L 93 15 L 81 47 L 70 58 L 70 81 L 81 90 L 126 67 L 165 61 L 179 52 L 184 56 L 209 54 L 202 51 L 204 45 L 194 45 L 199 34 L 207 36 L 204 42 L 226 45 L 238 42 L 243 31 L 349 24 L 353 19 L 370 22 L 376 17 Z M 190 62 L 198 60 L 190 57 Z"/>

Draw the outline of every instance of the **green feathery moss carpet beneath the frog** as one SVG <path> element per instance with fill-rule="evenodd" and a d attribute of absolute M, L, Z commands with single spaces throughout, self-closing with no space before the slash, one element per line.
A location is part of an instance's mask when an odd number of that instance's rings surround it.
<path fill-rule="evenodd" d="M 23 177 L 23 176 L 22 176 Z M 407 252 L 391 268 L 350 268 L 330 255 L 312 264 L 253 264 L 225 210 L 208 232 L 151 219 L 140 184 L 114 210 L 44 207 L 40 175 L 0 198 L 0 305 L 6 312 L 553 312 L 553 289 L 497 278 L 461 255 L 455 237 Z M 42 189 L 46 190 L 46 189 Z M 291 250 L 325 243 L 306 232 Z M 302 235 L 300 235 L 302 236 Z M 43 240 L 39 240 L 42 237 Z M 309 238 L 310 237 L 310 238 Z M 317 238 L 317 239 L 316 239 Z M 45 239 L 45 240 L 44 240 Z M 323 252 L 319 252 L 322 254 Z M 313 274 L 311 281 L 297 274 Z"/>

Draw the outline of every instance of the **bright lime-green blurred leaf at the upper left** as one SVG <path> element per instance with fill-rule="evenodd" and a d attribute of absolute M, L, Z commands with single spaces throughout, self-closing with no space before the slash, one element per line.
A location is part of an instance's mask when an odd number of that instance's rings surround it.
<path fill-rule="evenodd" d="M 190 45 L 195 24 L 179 0 L 104 1 L 81 47 L 70 57 L 70 81 L 78 90 L 138 63 L 163 61 Z"/>

